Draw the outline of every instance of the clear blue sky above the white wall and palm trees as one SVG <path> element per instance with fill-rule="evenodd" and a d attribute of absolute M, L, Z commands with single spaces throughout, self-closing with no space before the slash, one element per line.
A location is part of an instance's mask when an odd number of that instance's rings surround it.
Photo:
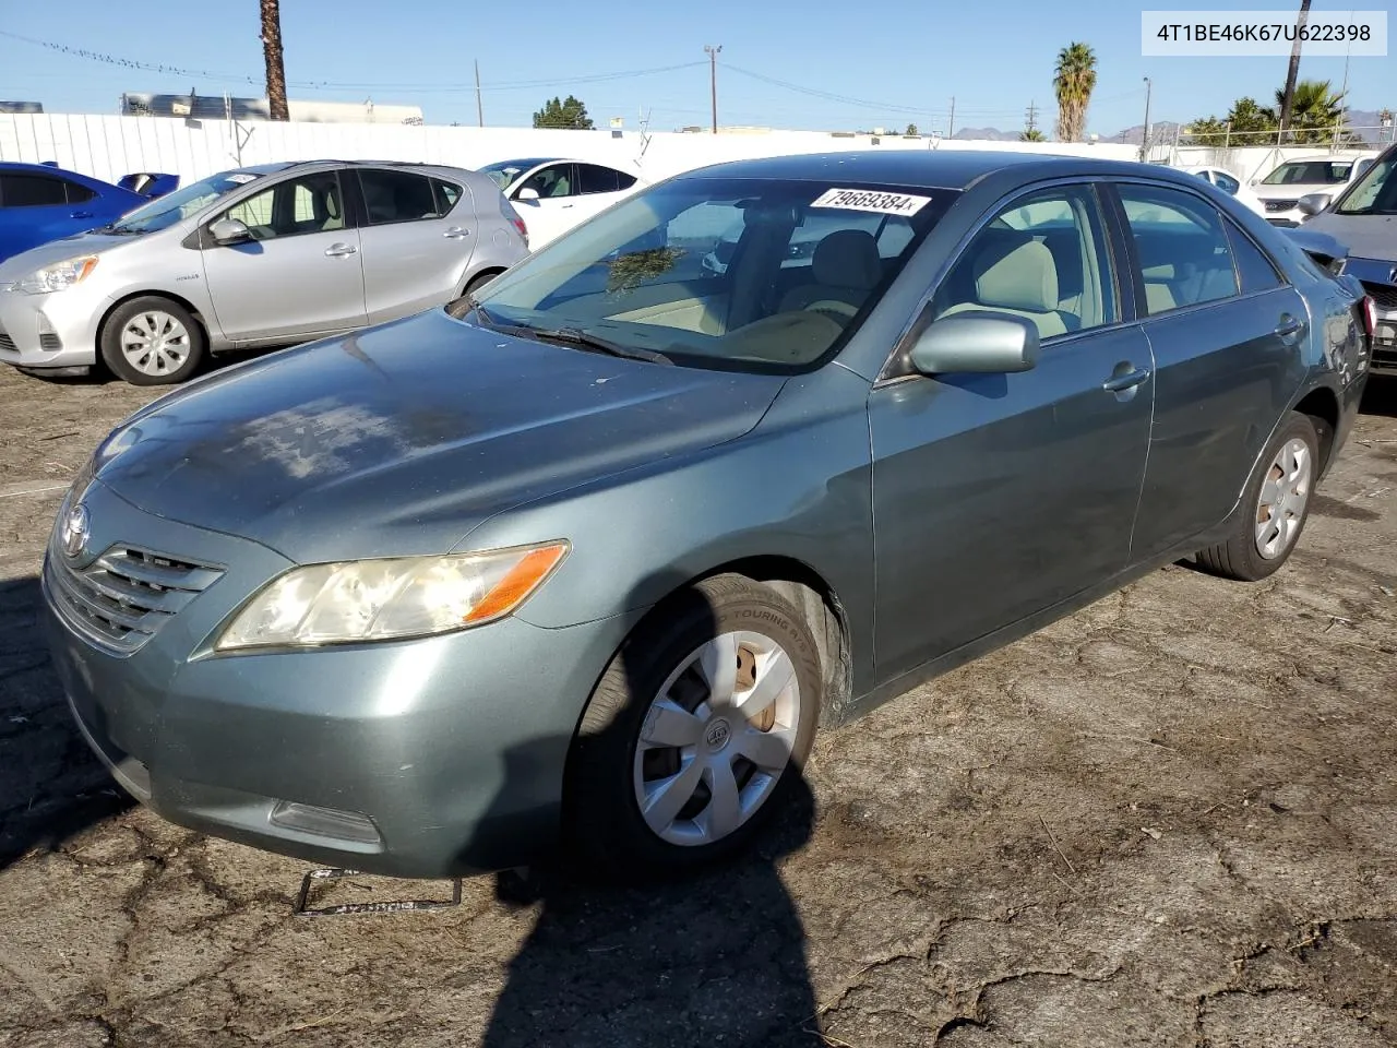
<path fill-rule="evenodd" d="M 1292 6 L 1194 0 L 1175 7 Z M 1088 130 L 1102 138 L 1143 122 L 1147 75 L 1151 120 L 1222 115 L 1234 98 L 1266 101 L 1284 82 L 1284 57 L 1143 59 L 1140 10 L 1101 0 L 282 0 L 282 31 L 292 98 L 416 103 L 429 123 L 475 123 L 472 60 L 479 59 L 486 124 L 528 126 L 545 98 L 570 91 L 598 123 L 622 116 L 634 127 L 648 110 L 657 130 L 704 124 L 705 43 L 722 45 L 724 124 L 855 130 L 912 122 L 922 131 L 944 131 L 954 95 L 957 129 L 1017 129 L 1037 102 L 1039 126 L 1051 131 L 1053 61 L 1073 41 L 1098 56 Z M 1348 7 L 1320 0 L 1313 10 Z M 49 112 L 115 112 L 122 91 L 263 94 L 257 0 L 156 4 L 147 18 L 112 0 L 0 0 L 0 11 L 3 32 L 201 74 L 113 66 L 0 35 L 0 98 L 39 101 Z M 686 63 L 694 64 L 602 78 Z M 1301 75 L 1337 88 L 1344 59 L 1306 57 Z M 1348 82 L 1356 109 L 1397 105 L 1397 57 L 1352 59 Z"/>

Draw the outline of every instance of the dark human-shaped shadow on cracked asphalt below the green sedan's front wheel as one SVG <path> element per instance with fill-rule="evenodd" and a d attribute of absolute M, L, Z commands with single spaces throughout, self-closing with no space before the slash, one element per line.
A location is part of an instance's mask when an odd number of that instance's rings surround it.
<path fill-rule="evenodd" d="M 826 1044 L 805 928 L 777 868 L 809 840 L 814 799 L 798 769 L 787 774 L 795 788 L 752 847 L 697 872 L 620 883 L 564 848 L 539 871 L 497 875 L 499 901 L 538 917 L 483 1048 Z"/>

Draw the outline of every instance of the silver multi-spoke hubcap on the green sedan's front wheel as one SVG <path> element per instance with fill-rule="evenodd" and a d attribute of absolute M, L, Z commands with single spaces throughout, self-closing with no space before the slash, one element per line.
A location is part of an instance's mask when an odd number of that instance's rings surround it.
<path fill-rule="evenodd" d="M 725 633 L 682 660 L 636 746 L 636 802 L 671 844 L 722 840 L 775 789 L 800 724 L 800 683 L 767 636 Z"/>

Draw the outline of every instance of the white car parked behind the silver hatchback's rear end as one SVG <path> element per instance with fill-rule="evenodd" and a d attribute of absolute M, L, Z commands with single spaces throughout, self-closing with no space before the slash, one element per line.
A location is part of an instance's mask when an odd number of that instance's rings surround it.
<path fill-rule="evenodd" d="M 617 168 L 556 157 L 500 161 L 481 170 L 524 215 L 535 250 L 644 186 Z"/>

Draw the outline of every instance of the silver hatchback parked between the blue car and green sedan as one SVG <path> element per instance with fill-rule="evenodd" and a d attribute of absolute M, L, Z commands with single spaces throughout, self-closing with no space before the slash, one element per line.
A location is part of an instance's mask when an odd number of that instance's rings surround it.
<path fill-rule="evenodd" d="M 228 170 L 0 264 L 0 362 L 137 386 L 471 293 L 528 254 L 488 176 L 317 161 Z"/>

